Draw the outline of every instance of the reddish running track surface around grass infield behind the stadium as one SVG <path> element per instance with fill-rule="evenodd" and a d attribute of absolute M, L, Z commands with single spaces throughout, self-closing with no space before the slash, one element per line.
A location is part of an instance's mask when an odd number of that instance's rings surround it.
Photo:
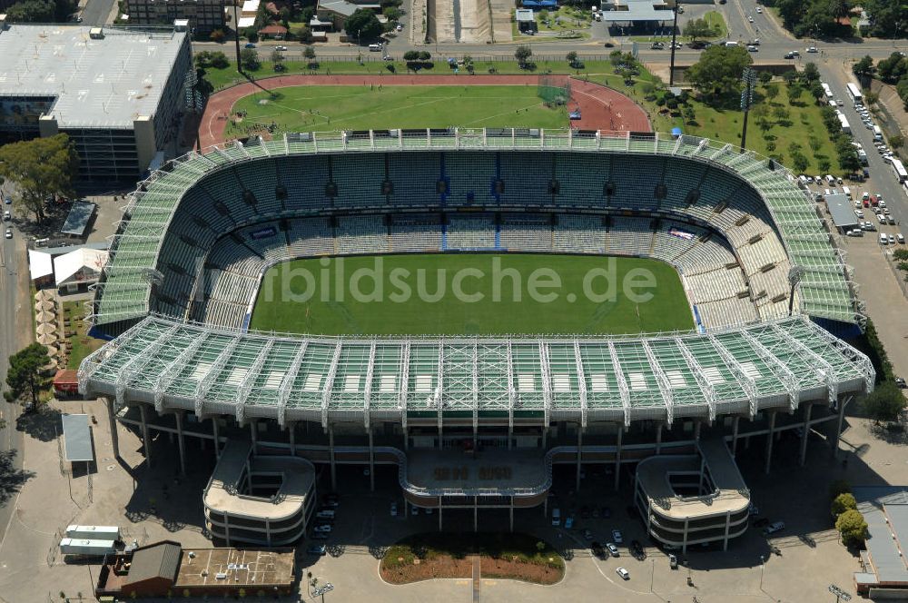
<path fill-rule="evenodd" d="M 538 85 L 539 75 L 281 75 L 232 86 L 212 94 L 199 124 L 200 148 L 224 142 L 233 104 L 260 90 L 300 85 Z M 559 84 L 567 75 L 550 76 Z M 571 79 L 569 109 L 579 108 L 582 119 L 571 127 L 581 130 L 649 132 L 646 111 L 626 95 L 583 80 Z"/>

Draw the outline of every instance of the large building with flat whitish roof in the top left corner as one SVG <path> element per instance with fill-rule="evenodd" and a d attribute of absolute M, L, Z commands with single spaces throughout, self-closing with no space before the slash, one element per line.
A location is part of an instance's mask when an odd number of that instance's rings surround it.
<path fill-rule="evenodd" d="M 173 28 L 0 25 L 0 136 L 66 133 L 79 179 L 135 180 L 173 154 L 185 112 L 189 35 Z"/>

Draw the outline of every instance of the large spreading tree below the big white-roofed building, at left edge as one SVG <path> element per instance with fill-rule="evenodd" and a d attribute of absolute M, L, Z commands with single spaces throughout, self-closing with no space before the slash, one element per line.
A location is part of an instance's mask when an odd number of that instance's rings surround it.
<path fill-rule="evenodd" d="M 79 155 L 66 134 L 0 146 L 0 176 L 16 184 L 16 203 L 44 220 L 44 202 L 53 195 L 72 196 Z"/>

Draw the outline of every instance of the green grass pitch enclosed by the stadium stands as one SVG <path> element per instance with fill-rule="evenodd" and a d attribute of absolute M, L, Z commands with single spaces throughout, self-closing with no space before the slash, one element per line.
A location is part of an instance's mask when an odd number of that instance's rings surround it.
<path fill-rule="evenodd" d="M 295 260 L 265 273 L 252 330 L 324 335 L 689 331 L 677 272 L 656 260 L 434 254 Z"/>

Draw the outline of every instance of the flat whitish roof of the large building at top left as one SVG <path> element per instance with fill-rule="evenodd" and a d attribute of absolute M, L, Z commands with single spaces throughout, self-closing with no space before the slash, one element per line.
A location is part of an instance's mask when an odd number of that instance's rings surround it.
<path fill-rule="evenodd" d="M 0 96 L 52 97 L 61 128 L 132 127 L 154 115 L 186 33 L 83 25 L 10 25 L 0 31 Z"/>

